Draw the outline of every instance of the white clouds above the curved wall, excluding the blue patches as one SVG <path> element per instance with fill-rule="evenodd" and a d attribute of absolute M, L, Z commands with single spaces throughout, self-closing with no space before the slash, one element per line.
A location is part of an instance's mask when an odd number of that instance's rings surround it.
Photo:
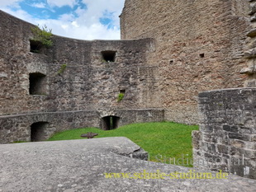
<path fill-rule="evenodd" d="M 18 2 L 17 0 L 9 0 L 8 2 L 11 1 L 14 2 L 14 4 Z M 28 12 L 21 10 L 21 8 L 17 9 L 17 11 L 13 11 L 13 9 L 9 7 L 2 8 L 0 6 L 0 8 L 4 12 L 8 12 L 13 16 L 17 16 L 35 25 L 46 25 L 49 29 L 52 29 L 55 35 L 81 40 L 118 40 L 120 39 L 118 16 L 121 14 L 124 1 L 125 0 L 83 0 L 83 3 L 87 4 L 87 9 L 78 7 L 75 12 L 63 14 L 56 20 L 34 18 Z M 76 0 L 47 0 L 47 2 L 51 3 L 51 6 L 62 7 L 64 5 L 73 6 Z M 11 4 L 13 5 L 13 3 Z M 106 12 L 113 12 L 111 14 L 111 26 L 114 27 L 111 29 L 102 25 L 99 21 L 104 14 L 106 15 Z"/>

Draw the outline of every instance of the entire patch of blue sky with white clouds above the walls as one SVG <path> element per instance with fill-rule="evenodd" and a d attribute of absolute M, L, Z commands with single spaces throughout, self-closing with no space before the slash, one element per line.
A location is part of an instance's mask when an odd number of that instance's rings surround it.
<path fill-rule="evenodd" d="M 119 40 L 125 0 L 0 0 L 0 9 L 53 34 L 81 40 Z"/>

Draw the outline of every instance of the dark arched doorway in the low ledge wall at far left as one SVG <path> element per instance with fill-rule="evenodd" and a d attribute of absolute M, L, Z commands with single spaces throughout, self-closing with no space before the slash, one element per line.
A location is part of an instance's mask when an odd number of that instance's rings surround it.
<path fill-rule="evenodd" d="M 38 142 L 47 139 L 48 122 L 36 122 L 31 124 L 31 142 Z"/>

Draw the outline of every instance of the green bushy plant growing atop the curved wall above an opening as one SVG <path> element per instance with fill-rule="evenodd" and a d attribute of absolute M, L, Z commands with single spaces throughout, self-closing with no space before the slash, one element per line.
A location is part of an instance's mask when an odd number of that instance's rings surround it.
<path fill-rule="evenodd" d="M 44 45 L 45 47 L 51 47 L 53 45 L 52 33 L 51 30 L 47 28 L 47 26 L 40 26 L 31 27 L 31 31 L 34 35 L 34 41 L 40 42 L 40 44 Z"/>

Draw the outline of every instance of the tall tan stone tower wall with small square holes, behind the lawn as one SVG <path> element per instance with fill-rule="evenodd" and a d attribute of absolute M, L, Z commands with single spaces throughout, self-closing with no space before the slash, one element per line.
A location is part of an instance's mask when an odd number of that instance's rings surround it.
<path fill-rule="evenodd" d="M 167 120 L 197 124 L 199 92 L 244 86 L 248 12 L 244 0 L 126 0 L 121 39 L 155 39 L 148 62 Z"/>

